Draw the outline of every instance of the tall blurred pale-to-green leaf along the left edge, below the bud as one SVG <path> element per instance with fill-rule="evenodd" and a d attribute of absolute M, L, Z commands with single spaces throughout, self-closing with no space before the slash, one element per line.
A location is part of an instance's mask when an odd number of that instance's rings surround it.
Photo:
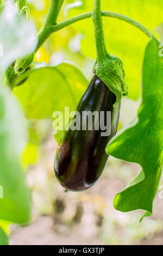
<path fill-rule="evenodd" d="M 0 87 L 0 218 L 15 223 L 30 219 L 30 194 L 20 154 L 26 144 L 26 123 L 15 97 Z"/>

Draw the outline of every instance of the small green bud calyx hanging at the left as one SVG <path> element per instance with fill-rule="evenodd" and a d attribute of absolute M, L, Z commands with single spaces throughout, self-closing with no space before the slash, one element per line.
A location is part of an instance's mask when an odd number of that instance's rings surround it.
<path fill-rule="evenodd" d="M 33 62 L 34 53 L 30 54 L 25 58 L 17 58 L 14 66 L 15 74 L 21 75 Z"/>

